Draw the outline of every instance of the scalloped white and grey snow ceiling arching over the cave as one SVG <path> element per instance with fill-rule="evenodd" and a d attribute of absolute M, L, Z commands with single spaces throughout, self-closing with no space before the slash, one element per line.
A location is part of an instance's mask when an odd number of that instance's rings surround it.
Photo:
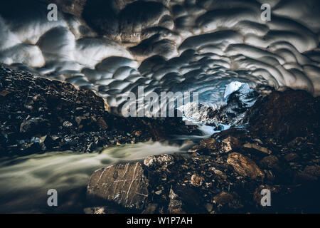
<path fill-rule="evenodd" d="M 318 0 L 110 1 L 119 6 L 110 36 L 62 11 L 48 21 L 41 1 L 1 1 L 0 63 L 97 90 L 118 108 L 138 86 L 197 91 L 208 103 L 232 81 L 320 95 Z"/>

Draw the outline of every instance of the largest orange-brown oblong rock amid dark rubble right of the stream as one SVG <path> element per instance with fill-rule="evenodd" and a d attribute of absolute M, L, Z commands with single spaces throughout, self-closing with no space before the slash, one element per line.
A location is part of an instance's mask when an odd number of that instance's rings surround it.
<path fill-rule="evenodd" d="M 232 165 L 239 175 L 244 177 L 250 177 L 256 179 L 257 177 L 265 177 L 265 174 L 260 168 L 250 160 L 249 157 L 245 157 L 238 152 L 230 153 L 228 156 L 227 163 Z"/>

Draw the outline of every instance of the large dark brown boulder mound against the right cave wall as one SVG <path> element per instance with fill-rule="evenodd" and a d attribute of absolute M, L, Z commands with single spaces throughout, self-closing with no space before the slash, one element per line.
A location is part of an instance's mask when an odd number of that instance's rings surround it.
<path fill-rule="evenodd" d="M 318 132 L 320 103 L 304 90 L 274 91 L 257 100 L 248 110 L 244 123 L 250 123 L 255 135 L 289 142 L 308 133 Z"/>

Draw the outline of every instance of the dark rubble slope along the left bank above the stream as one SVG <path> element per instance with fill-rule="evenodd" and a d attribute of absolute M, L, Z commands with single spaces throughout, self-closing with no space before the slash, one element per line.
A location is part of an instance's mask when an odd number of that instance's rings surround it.
<path fill-rule="evenodd" d="M 74 150 L 201 134 L 181 118 L 123 118 L 92 90 L 0 66 L 0 156 Z"/>

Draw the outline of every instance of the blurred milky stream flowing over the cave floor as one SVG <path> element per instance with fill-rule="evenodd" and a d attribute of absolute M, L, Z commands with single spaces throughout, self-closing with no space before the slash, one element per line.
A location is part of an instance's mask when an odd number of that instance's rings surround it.
<path fill-rule="evenodd" d="M 189 144 L 190 145 L 190 144 Z M 140 142 L 110 147 L 101 153 L 46 152 L 0 160 L 0 212 L 81 212 L 90 175 L 117 162 L 148 155 L 183 152 L 186 144 Z M 47 205 L 47 191 L 58 191 L 58 207 Z"/>

